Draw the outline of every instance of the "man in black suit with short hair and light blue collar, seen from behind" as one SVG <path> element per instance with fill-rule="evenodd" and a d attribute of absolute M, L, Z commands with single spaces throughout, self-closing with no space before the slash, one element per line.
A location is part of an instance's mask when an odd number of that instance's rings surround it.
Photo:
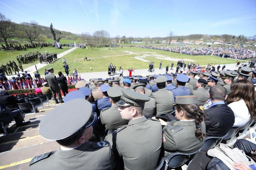
<path fill-rule="evenodd" d="M 234 112 L 225 104 L 227 90 L 221 85 L 209 90 L 212 104 L 205 111 L 206 136 L 224 136 L 235 122 Z"/>

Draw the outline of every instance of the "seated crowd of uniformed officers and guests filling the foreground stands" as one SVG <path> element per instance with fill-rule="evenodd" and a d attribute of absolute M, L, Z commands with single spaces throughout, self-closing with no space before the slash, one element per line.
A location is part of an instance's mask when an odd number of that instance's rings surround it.
<path fill-rule="evenodd" d="M 54 72 L 53 68 L 48 71 Z M 62 77 L 61 72 L 58 75 Z M 51 83 L 48 77 L 46 81 Z M 56 140 L 60 149 L 33 159 L 29 169 L 155 169 L 161 157 L 196 153 L 206 137 L 223 137 L 232 127 L 255 118 L 255 91 L 250 82 L 255 78 L 256 71 L 243 67 L 219 73 L 81 79 L 77 90 L 65 94 L 64 104 L 40 122 L 40 135 Z M 58 80 L 59 84 L 66 81 Z M 38 84 L 36 92 L 44 90 Z M 47 91 L 58 102 L 57 90 Z M 4 90 L 0 92 L 4 94 Z M 0 95 L 0 103 L 5 98 L 20 102 Z M 6 109 L 4 105 L 0 108 Z M 254 145 L 238 140 L 234 147 L 249 155 L 255 151 Z M 188 169 L 205 169 L 216 159 L 207 151 L 198 152 Z M 225 167 L 225 162 L 215 162 Z M 233 166 L 247 167 L 243 163 Z"/>

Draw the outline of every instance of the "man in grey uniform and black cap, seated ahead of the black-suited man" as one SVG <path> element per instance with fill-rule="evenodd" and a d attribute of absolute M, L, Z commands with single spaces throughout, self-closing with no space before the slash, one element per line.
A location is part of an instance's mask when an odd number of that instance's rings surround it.
<path fill-rule="evenodd" d="M 197 90 L 192 90 L 192 95 L 197 97 L 198 105 L 204 105 L 209 99 L 209 92 L 205 89 L 208 82 L 205 79 L 198 79 L 196 82 Z"/>

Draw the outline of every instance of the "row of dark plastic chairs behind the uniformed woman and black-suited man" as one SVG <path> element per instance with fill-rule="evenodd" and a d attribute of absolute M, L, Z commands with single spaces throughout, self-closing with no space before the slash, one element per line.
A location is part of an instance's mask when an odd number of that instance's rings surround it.
<path fill-rule="evenodd" d="M 254 119 L 250 120 L 247 124 L 243 126 L 237 126 L 237 127 L 232 127 L 228 133 L 225 136 L 222 137 L 213 137 L 213 136 L 207 136 L 205 138 L 204 145 L 197 151 L 192 152 L 192 153 L 171 153 L 170 155 L 167 156 L 166 159 L 162 157 L 158 167 L 156 170 L 163 169 L 168 169 L 168 168 L 175 168 L 175 169 L 182 169 L 181 167 L 191 161 L 194 157 L 194 155 L 199 152 L 199 151 L 207 151 L 208 149 L 214 148 L 216 145 L 219 145 L 222 140 L 233 140 L 236 138 L 239 133 L 245 133 L 249 130 L 251 127 L 252 123 L 254 122 Z M 164 165 L 165 164 L 165 165 Z"/>

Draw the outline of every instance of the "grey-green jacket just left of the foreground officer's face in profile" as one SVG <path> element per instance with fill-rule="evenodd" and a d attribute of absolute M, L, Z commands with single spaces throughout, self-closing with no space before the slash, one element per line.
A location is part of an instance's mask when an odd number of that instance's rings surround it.
<path fill-rule="evenodd" d="M 100 112 L 100 120 L 106 129 L 116 129 L 128 124 L 128 120 L 124 120 L 118 110 L 118 105 L 112 105 Z"/>

